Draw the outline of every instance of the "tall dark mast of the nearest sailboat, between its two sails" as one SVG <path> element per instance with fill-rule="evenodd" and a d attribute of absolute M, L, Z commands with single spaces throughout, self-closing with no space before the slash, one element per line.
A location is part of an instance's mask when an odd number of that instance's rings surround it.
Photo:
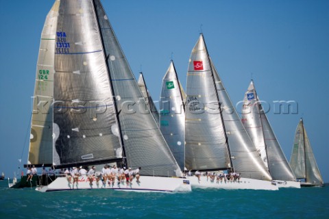
<path fill-rule="evenodd" d="M 100 3 L 100 2 L 99 2 Z M 101 4 L 101 3 L 100 3 Z M 95 9 L 95 0 L 93 0 L 93 11 L 95 12 L 95 17 L 97 20 L 97 25 L 98 25 L 98 29 L 99 29 L 99 36 L 101 38 L 101 47 L 103 48 L 104 51 L 104 41 L 103 41 L 103 34 L 101 34 L 101 25 L 99 24 L 99 15 L 97 13 L 97 10 Z M 117 118 L 117 125 L 118 125 L 118 131 L 119 131 L 119 136 L 120 136 L 120 143 L 121 143 L 121 147 L 122 147 L 122 161 L 123 161 L 123 166 L 127 165 L 127 157 L 125 156 L 125 146 L 123 143 L 123 137 L 122 137 L 122 132 L 121 132 L 121 124 L 120 124 L 120 120 L 119 120 L 119 113 L 118 112 L 118 107 L 117 107 L 117 101 L 114 99 L 114 89 L 112 86 L 112 79 L 111 79 L 111 74 L 110 74 L 110 68 L 108 66 L 108 58 L 110 57 L 110 54 L 108 54 L 107 57 L 105 57 L 105 53 L 103 53 L 104 59 L 106 60 L 106 68 L 108 70 L 108 78 L 109 78 L 109 83 L 110 83 L 110 88 L 112 91 L 112 101 L 114 104 L 114 112 L 115 112 L 115 116 Z"/>

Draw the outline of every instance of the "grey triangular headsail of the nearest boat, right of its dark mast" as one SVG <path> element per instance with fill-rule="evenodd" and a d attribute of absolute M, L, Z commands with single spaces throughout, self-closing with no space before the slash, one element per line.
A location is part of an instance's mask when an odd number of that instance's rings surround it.
<path fill-rule="evenodd" d="M 94 1 L 103 49 L 114 90 L 119 127 L 127 165 L 141 167 L 141 174 L 180 176 L 180 168 L 154 117 L 145 113 L 145 99 L 102 5 Z"/>

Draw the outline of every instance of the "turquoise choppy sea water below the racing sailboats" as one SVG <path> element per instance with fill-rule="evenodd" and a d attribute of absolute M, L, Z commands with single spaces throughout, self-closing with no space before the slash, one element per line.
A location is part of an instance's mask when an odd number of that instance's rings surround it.
<path fill-rule="evenodd" d="M 36 192 L 0 181 L 0 218 L 329 218 L 324 188 L 193 189 L 184 193 L 112 190 Z"/>

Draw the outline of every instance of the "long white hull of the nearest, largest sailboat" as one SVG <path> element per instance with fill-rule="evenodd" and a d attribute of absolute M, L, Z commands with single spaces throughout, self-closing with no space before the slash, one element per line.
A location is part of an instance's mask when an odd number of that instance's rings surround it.
<path fill-rule="evenodd" d="M 73 180 L 72 180 L 73 181 Z M 134 179 L 131 183 L 126 183 L 125 180 L 118 183 L 115 179 L 114 183 L 106 181 L 103 183 L 93 181 L 90 185 L 88 177 L 79 177 L 79 182 L 69 183 L 66 177 L 58 177 L 47 186 L 36 188 L 39 192 L 52 192 L 64 190 L 91 190 L 91 189 L 111 189 L 111 190 L 124 190 L 135 192 L 190 192 L 191 185 L 188 179 L 173 178 L 173 177 L 148 177 L 141 176 L 139 183 Z"/>

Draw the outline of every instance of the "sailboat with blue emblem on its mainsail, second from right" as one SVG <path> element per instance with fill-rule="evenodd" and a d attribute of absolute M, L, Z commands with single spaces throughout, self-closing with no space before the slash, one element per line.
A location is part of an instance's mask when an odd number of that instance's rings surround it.
<path fill-rule="evenodd" d="M 279 188 L 300 188 L 251 81 L 243 99 L 241 121 Z"/>

